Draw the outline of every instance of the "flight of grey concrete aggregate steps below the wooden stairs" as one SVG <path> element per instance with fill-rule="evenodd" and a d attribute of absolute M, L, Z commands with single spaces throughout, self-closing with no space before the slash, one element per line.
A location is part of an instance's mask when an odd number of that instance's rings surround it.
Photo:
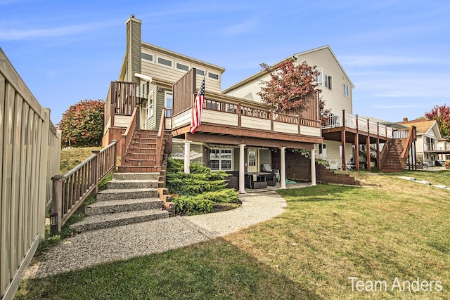
<path fill-rule="evenodd" d="M 169 217 L 158 195 L 160 173 L 115 173 L 86 219 L 72 225 L 78 233 Z"/>

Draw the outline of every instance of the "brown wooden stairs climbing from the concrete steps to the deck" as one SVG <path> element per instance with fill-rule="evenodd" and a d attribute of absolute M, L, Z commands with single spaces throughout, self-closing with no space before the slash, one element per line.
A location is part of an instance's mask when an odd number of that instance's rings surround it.
<path fill-rule="evenodd" d="M 162 162 L 158 162 L 158 151 L 164 152 L 164 145 L 158 149 L 157 135 L 158 131 L 136 129 L 119 172 L 160 172 Z"/>

